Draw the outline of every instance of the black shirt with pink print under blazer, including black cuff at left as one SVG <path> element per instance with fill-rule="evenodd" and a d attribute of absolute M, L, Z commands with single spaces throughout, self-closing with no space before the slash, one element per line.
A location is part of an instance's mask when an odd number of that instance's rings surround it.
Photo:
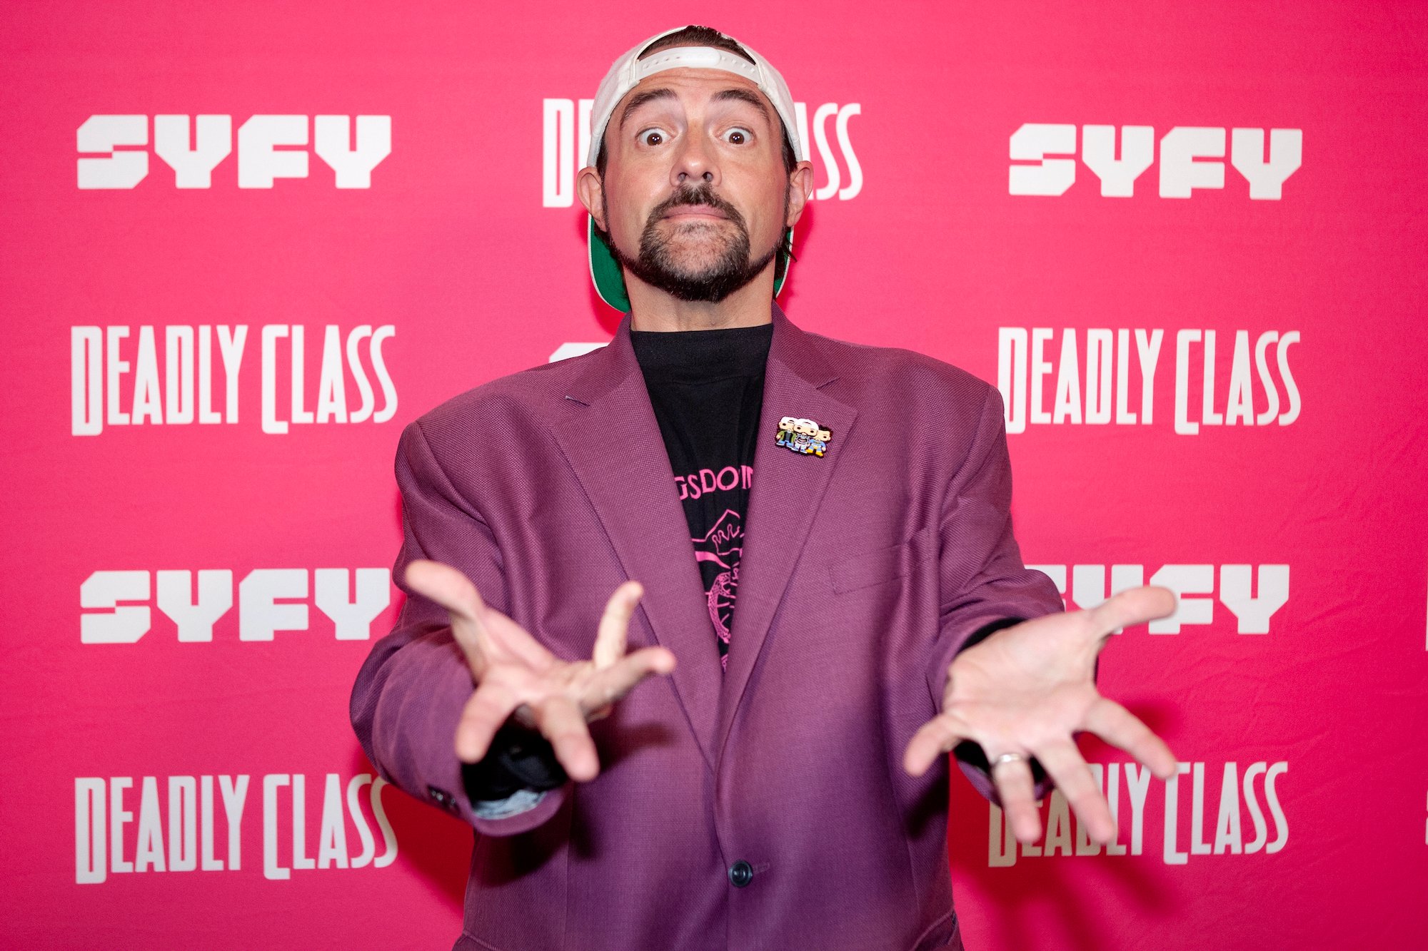
<path fill-rule="evenodd" d="M 728 631 L 738 595 L 744 518 L 754 476 L 764 366 L 774 326 L 630 333 L 650 404 L 670 456 L 674 491 L 684 507 L 704 597 L 728 663 Z M 565 783 L 550 741 L 508 720 L 481 763 L 467 765 L 473 801 L 501 800 L 517 790 Z"/>

